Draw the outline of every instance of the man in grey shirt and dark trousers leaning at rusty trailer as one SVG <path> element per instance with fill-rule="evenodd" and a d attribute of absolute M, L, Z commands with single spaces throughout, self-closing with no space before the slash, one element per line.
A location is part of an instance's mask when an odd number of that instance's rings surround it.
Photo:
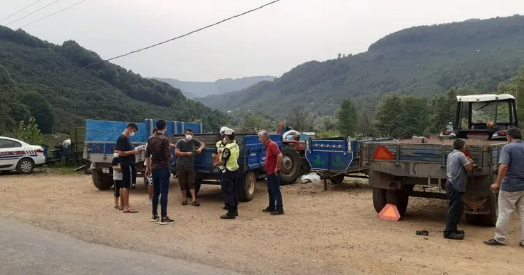
<path fill-rule="evenodd" d="M 444 237 L 446 239 L 463 239 L 464 231 L 456 228 L 464 212 L 462 197 L 465 193 L 466 172 L 473 168 L 473 160 L 464 155 L 465 140 L 455 139 L 453 141 L 453 152 L 447 155 L 446 166 L 446 194 L 449 198 L 449 208 L 446 215 L 446 228 Z"/>

